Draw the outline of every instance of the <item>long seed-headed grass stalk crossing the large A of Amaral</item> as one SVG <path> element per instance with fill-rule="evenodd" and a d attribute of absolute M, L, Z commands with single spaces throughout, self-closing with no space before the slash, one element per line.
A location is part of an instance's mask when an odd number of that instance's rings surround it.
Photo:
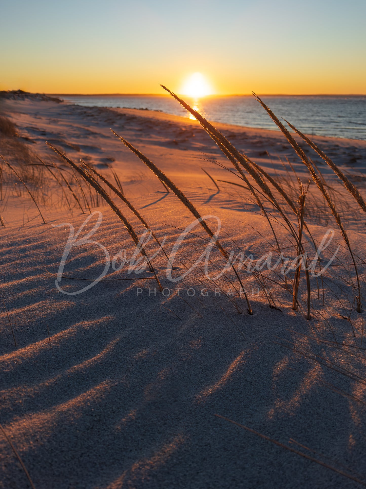
<path fill-rule="evenodd" d="M 214 238 L 215 234 L 211 231 L 210 227 L 208 226 L 207 222 L 204 221 L 204 219 L 202 218 L 202 216 L 200 215 L 200 213 L 198 212 L 198 210 L 196 209 L 196 207 L 192 204 L 192 202 L 190 200 L 187 199 L 187 197 L 183 194 L 183 192 L 172 182 L 172 180 L 170 178 L 168 178 L 163 172 L 162 170 L 160 170 L 160 168 L 158 168 L 156 165 L 154 165 L 154 163 L 152 161 L 150 161 L 148 158 L 146 158 L 146 156 L 144 156 L 138 149 L 136 149 L 134 146 L 132 146 L 132 144 L 130 144 L 128 141 L 126 141 L 126 139 L 123 139 L 123 137 L 119 136 L 117 133 L 115 133 L 112 129 L 111 129 L 112 133 L 117 136 L 120 141 L 122 141 L 122 143 L 127 146 L 127 148 L 129 148 L 133 153 L 135 153 L 136 156 L 138 156 L 141 161 L 143 163 L 145 163 L 145 165 L 147 166 L 147 168 L 149 168 L 158 178 L 159 180 L 163 181 L 164 184 L 170 188 L 170 190 L 178 197 L 179 200 L 181 200 L 181 202 L 185 205 L 185 207 L 189 210 L 189 212 L 197 219 L 199 220 L 201 226 L 203 227 L 203 229 L 206 231 L 206 233 L 208 234 L 208 236 L 212 239 Z M 219 240 L 218 240 L 218 237 L 216 236 L 216 242 L 215 242 L 215 245 L 220 249 L 221 253 L 224 255 L 224 257 L 226 258 L 226 260 L 229 259 L 229 255 L 227 254 L 226 250 L 223 248 L 223 246 L 220 244 Z M 238 280 L 239 280 L 239 283 L 240 283 L 240 286 L 242 287 L 242 289 L 244 289 L 243 287 L 243 284 L 242 284 L 242 281 L 238 275 L 238 272 L 235 270 L 234 266 L 231 265 L 232 269 L 234 270 Z M 249 302 L 249 299 L 247 297 L 247 294 L 246 292 L 244 291 L 244 295 L 245 295 L 245 299 L 246 299 L 246 303 L 247 303 L 247 306 L 248 306 L 248 312 L 249 314 L 252 314 L 252 308 L 250 306 L 250 302 Z"/>

